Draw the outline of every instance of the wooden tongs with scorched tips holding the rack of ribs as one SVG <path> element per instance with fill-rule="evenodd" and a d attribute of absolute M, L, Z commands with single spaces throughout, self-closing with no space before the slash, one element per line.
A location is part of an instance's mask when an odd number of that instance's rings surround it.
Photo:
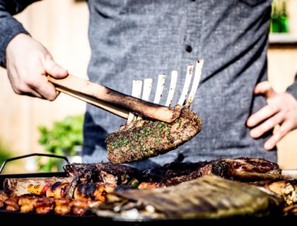
<path fill-rule="evenodd" d="M 76 76 L 69 75 L 62 79 L 47 76 L 47 79 L 54 84 L 56 90 L 105 109 L 124 119 L 128 119 L 129 112 L 136 112 L 144 117 L 167 123 L 175 121 L 180 116 L 180 109 L 177 107 L 165 107 L 141 100 Z"/>

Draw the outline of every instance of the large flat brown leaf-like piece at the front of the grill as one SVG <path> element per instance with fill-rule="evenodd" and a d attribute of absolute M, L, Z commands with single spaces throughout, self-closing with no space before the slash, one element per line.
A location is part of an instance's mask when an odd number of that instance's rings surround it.
<path fill-rule="evenodd" d="M 135 209 L 135 203 L 142 208 L 136 218 L 144 218 L 142 212 L 148 206 L 172 219 L 267 215 L 269 210 L 269 196 L 257 187 L 216 176 L 205 176 L 161 189 L 119 191 L 117 195 L 122 200 L 132 200 L 132 203 L 130 201 L 118 208 L 117 213 L 114 213 L 117 217 L 126 215 L 127 210 Z M 122 200 L 115 201 L 112 208 Z M 96 213 L 103 213 L 100 206 Z M 146 217 L 149 218 L 149 215 Z"/>

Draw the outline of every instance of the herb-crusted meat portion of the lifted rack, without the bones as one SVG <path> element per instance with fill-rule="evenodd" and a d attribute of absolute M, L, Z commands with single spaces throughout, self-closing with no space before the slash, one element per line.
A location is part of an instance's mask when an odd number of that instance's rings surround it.
<path fill-rule="evenodd" d="M 167 153 L 202 129 L 202 120 L 189 108 L 172 124 L 139 120 L 106 136 L 107 158 L 113 163 L 134 162 Z"/>

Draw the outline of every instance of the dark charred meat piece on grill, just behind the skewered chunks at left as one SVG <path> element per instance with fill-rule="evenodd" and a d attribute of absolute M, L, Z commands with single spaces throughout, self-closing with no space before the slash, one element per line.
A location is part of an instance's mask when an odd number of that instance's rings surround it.
<path fill-rule="evenodd" d="M 71 177 L 78 176 L 86 182 L 106 182 L 109 184 L 128 184 L 138 177 L 138 171 L 127 165 L 115 165 L 110 162 L 98 164 L 73 163 L 64 166 Z"/>

